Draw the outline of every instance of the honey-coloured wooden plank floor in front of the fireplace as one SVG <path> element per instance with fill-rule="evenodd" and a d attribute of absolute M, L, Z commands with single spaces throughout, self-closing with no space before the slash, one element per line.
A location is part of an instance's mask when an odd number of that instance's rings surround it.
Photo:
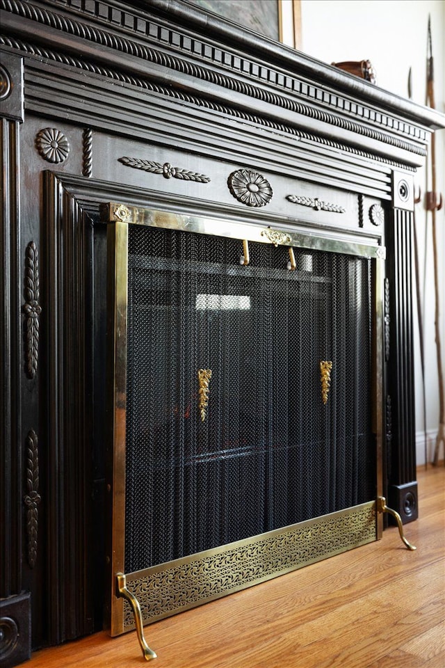
<path fill-rule="evenodd" d="M 26 668 L 445 668 L 445 467 L 419 469 L 420 518 L 382 541 L 145 627 L 35 652 Z"/>

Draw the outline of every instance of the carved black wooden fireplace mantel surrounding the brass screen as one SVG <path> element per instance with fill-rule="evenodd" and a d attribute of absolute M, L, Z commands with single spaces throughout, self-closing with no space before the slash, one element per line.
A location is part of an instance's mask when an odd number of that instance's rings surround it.
<path fill-rule="evenodd" d="M 0 7 L 6 667 L 102 628 L 106 202 L 386 250 L 379 485 L 417 517 L 413 181 L 445 122 L 185 1 Z"/>

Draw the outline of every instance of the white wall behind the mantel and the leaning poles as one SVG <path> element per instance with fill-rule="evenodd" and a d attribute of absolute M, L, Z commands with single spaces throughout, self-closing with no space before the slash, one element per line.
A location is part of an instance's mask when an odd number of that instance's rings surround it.
<path fill-rule="evenodd" d="M 425 104 L 428 15 L 431 16 L 432 55 L 435 65 L 435 107 L 444 113 L 445 0 L 301 0 L 300 50 L 325 63 L 368 59 L 377 72 L 378 86 L 402 97 L 408 95 L 407 80 L 411 67 L 412 100 Z M 437 191 L 445 196 L 445 130 L 437 132 L 435 143 Z M 416 175 L 416 186 L 421 188 L 423 194 L 431 187 L 429 172 L 428 168 L 423 168 Z M 436 221 L 440 336 L 445 374 L 445 205 L 442 211 L 437 212 Z M 426 214 L 423 200 L 416 205 L 416 230 L 419 241 L 421 310 L 426 351 L 426 423 L 424 423 L 419 330 L 416 319 L 415 285 L 413 285 L 416 441 L 417 463 L 421 464 L 425 463 L 424 424 L 429 434 L 428 461 L 432 459 L 439 426 L 431 214 Z M 442 459 L 444 451 L 439 454 Z"/>

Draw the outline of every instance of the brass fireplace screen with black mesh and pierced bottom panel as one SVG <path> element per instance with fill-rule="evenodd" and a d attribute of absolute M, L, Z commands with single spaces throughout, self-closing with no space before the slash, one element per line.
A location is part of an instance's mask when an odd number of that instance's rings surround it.
<path fill-rule="evenodd" d="M 104 218 L 111 635 L 136 624 L 151 658 L 143 623 L 380 537 L 384 249 Z"/>

